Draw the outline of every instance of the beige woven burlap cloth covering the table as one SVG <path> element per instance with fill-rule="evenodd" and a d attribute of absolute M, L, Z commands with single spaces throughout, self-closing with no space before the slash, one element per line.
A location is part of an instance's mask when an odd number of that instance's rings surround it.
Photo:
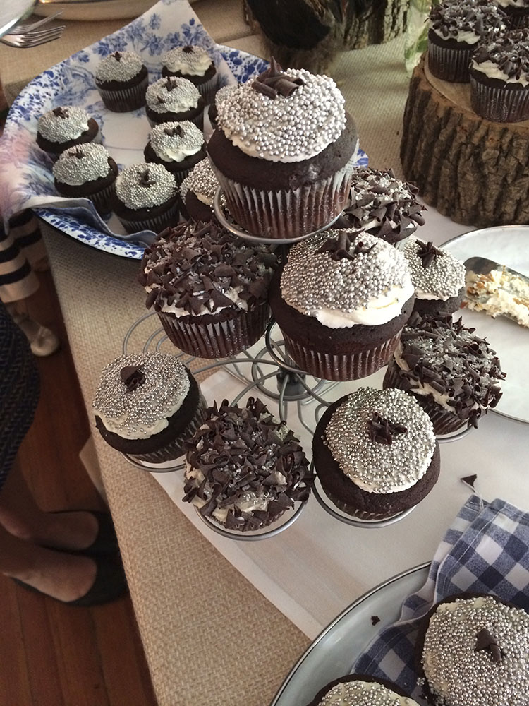
<path fill-rule="evenodd" d="M 401 40 L 343 54 L 333 76 L 371 164 L 399 172 L 408 85 Z M 138 261 L 43 229 L 90 410 L 99 372 L 145 311 Z M 267 705 L 308 639 L 212 549 L 149 474 L 99 437 L 96 449 L 160 706 Z"/>

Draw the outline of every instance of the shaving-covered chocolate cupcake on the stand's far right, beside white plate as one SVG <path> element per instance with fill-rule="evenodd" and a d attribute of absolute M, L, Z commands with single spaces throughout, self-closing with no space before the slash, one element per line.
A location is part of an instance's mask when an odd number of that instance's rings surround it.
<path fill-rule="evenodd" d="M 504 378 L 496 352 L 461 319 L 413 313 L 384 376 L 384 388 L 413 395 L 439 435 L 478 426 L 481 415 L 499 402 Z"/>

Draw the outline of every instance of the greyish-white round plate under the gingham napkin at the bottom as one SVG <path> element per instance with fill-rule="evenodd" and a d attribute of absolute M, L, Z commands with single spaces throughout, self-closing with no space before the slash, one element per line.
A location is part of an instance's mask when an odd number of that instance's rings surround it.
<path fill-rule="evenodd" d="M 270 706 L 305 706 L 329 681 L 350 674 L 375 635 L 399 619 L 401 604 L 425 583 L 430 563 L 403 571 L 352 603 L 312 642 Z M 380 622 L 372 625 L 371 616 Z"/>

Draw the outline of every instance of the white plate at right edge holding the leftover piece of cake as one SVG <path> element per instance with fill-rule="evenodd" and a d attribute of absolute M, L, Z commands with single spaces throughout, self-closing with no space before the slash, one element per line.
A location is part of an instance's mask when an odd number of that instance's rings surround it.
<path fill-rule="evenodd" d="M 474 256 L 494 260 L 529 276 L 529 226 L 505 225 L 464 233 L 442 246 L 459 260 Z M 503 395 L 494 412 L 529 422 L 529 328 L 504 316 L 492 318 L 482 311 L 461 310 L 463 322 L 474 326 L 497 352 L 506 373 L 501 383 Z M 456 315 L 458 316 L 458 314 Z"/>

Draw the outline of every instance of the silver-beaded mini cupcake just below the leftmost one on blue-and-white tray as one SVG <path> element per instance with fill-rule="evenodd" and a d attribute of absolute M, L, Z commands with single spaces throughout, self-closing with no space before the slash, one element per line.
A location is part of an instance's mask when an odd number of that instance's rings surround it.
<path fill-rule="evenodd" d="M 53 167 L 55 188 L 67 198 L 90 198 L 99 213 L 109 213 L 118 165 L 103 145 L 87 143 L 65 150 Z"/>

